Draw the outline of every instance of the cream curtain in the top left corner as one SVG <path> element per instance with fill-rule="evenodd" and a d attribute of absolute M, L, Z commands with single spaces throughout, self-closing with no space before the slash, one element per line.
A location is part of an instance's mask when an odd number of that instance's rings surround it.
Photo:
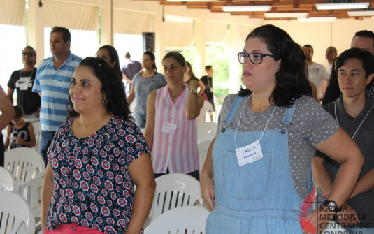
<path fill-rule="evenodd" d="M 0 24 L 26 24 L 24 0 L 0 0 Z"/>

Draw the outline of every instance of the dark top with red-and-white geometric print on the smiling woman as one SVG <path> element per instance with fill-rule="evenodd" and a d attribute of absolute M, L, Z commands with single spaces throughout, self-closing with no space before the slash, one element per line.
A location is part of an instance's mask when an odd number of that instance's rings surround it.
<path fill-rule="evenodd" d="M 104 233 L 124 233 L 134 207 L 134 183 L 127 168 L 150 153 L 140 129 L 112 117 L 87 138 L 73 135 L 69 119 L 48 149 L 55 188 L 47 217 L 50 231 L 76 223 Z M 141 231 L 143 233 L 143 231 Z"/>

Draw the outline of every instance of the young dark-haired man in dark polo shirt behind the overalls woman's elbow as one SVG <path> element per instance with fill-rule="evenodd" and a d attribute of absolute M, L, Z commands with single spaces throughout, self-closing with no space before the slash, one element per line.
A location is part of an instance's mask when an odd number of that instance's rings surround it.
<path fill-rule="evenodd" d="M 359 146 L 364 166 L 347 204 L 338 212 L 338 221 L 354 233 L 374 233 L 374 101 L 365 93 L 374 77 L 374 57 L 357 48 L 345 50 L 336 61 L 342 96 L 325 105 L 336 122 Z M 340 163 L 321 152 L 312 159 L 313 177 L 322 196 L 327 196 L 336 178 Z"/>

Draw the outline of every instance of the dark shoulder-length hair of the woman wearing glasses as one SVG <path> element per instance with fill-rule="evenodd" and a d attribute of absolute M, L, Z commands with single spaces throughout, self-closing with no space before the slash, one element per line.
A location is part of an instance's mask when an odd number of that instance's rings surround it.
<path fill-rule="evenodd" d="M 305 54 L 301 46 L 282 29 L 274 25 L 264 25 L 254 29 L 245 39 L 259 38 L 273 55 L 280 58 L 280 70 L 275 73 L 275 88 L 269 102 L 277 106 L 290 107 L 303 95 L 310 96 L 312 87 L 305 74 Z M 275 60 L 275 61 L 278 61 Z M 246 96 L 250 90 L 240 87 L 239 95 Z M 273 100 L 273 101 L 271 101 Z"/>

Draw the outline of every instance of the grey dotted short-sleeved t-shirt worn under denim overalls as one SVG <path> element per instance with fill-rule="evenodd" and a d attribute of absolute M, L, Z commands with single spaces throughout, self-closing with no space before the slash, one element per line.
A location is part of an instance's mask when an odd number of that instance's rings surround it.
<path fill-rule="evenodd" d="M 222 121 L 226 118 L 236 96 L 237 94 L 230 94 L 224 99 L 218 119 L 217 134 L 220 133 Z M 225 124 L 225 128 L 237 129 L 240 112 L 245 105 L 238 131 L 263 131 L 274 108 L 276 109 L 270 122 L 268 122 L 266 130 L 282 129 L 282 120 L 285 117 L 287 108 L 273 106 L 264 112 L 255 113 L 250 109 L 250 98 L 244 99 L 245 101 L 241 103 L 233 123 Z M 315 152 L 315 148 L 312 145 L 316 145 L 333 136 L 338 131 L 338 124 L 313 98 L 302 96 L 296 100 L 295 105 L 294 115 L 291 120 L 292 125 L 288 127 L 289 164 L 294 187 L 303 200 L 310 193 L 308 189 L 308 169 Z"/>

